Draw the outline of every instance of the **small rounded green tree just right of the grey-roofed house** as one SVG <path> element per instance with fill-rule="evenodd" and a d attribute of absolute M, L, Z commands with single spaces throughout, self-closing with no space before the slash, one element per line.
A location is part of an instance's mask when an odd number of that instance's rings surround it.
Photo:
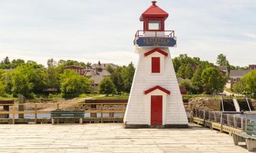
<path fill-rule="evenodd" d="M 115 94 L 116 88 L 113 84 L 112 80 L 109 77 L 104 78 L 100 82 L 100 93 L 106 94 L 106 96 L 109 96 L 109 94 Z"/>

